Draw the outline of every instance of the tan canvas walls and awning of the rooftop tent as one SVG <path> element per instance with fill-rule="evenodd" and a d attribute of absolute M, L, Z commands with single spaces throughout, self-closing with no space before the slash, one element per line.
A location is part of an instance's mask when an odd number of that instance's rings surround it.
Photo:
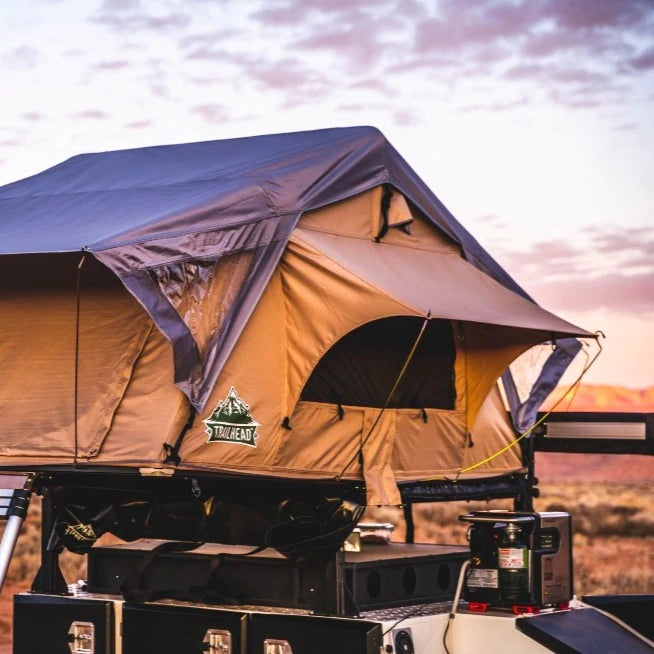
<path fill-rule="evenodd" d="M 468 263 L 397 191 L 376 242 L 381 207 L 377 186 L 302 215 L 178 465 L 164 445 L 178 443 L 190 404 L 171 344 L 139 302 L 90 255 L 79 298 L 80 255 L 2 257 L 0 466 L 365 479 L 370 503 L 398 504 L 398 482 L 451 478 L 501 450 L 515 434 L 500 375 L 532 345 L 588 334 Z M 152 279 L 177 283 L 171 303 L 202 354 L 251 256 L 180 265 L 177 281 L 172 268 Z M 352 401 L 371 389 L 369 406 Z M 521 468 L 510 448 L 462 478 Z"/>

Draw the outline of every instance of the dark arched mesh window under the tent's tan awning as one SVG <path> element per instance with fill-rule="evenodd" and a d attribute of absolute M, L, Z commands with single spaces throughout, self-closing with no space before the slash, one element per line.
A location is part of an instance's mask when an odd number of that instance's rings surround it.
<path fill-rule="evenodd" d="M 398 316 L 351 331 L 323 356 L 300 399 L 382 407 L 421 324 L 421 318 Z M 430 320 L 389 406 L 453 409 L 454 355 L 450 322 Z"/>

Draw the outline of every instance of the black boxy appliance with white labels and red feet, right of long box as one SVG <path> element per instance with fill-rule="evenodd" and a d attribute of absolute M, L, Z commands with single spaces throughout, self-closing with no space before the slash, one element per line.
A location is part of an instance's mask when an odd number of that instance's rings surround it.
<path fill-rule="evenodd" d="M 469 522 L 471 565 L 464 598 L 472 610 L 488 606 L 537 612 L 572 598 L 569 513 L 474 511 Z"/>

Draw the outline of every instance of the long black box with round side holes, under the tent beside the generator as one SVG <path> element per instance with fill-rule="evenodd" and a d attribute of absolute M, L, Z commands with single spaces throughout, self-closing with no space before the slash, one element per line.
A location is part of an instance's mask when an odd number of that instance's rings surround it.
<path fill-rule="evenodd" d="M 125 578 L 159 542 L 92 548 L 88 556 L 89 591 L 120 593 Z M 249 547 L 205 544 L 190 552 L 160 554 L 143 571 L 139 585 L 157 597 L 186 595 L 192 600 L 206 591 L 207 580 L 213 577 L 209 597 L 213 594 L 211 601 L 215 603 L 332 612 L 325 610 L 329 607 L 325 598 L 331 600 L 337 593 L 333 569 L 303 568 L 274 550 L 243 556 L 249 551 Z M 356 614 L 451 599 L 467 558 L 467 548 L 444 545 L 368 544 L 361 552 L 346 552 L 345 610 Z"/>

